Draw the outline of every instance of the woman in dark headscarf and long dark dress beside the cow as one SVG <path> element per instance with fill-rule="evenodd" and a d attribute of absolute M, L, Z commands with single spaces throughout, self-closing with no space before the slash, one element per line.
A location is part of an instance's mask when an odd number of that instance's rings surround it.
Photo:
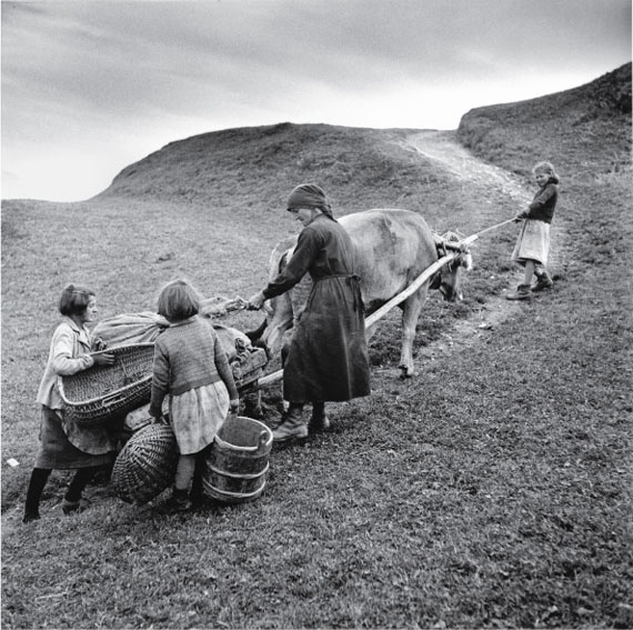
<path fill-rule="evenodd" d="M 326 430 L 326 401 L 370 393 L 363 303 L 350 236 L 332 216 L 323 190 L 313 183 L 298 186 L 287 209 L 303 224 L 294 253 L 285 269 L 249 299 L 249 308 L 260 309 L 305 273 L 312 279 L 283 367 L 283 396 L 290 407 L 273 431 L 275 441 L 307 438 L 309 429 Z M 307 402 L 312 403 L 310 426 L 303 419 Z"/>

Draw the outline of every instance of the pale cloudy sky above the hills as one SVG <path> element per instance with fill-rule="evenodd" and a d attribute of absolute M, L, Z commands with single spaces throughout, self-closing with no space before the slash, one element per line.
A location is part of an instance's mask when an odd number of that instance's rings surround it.
<path fill-rule="evenodd" d="M 2 199 L 84 200 L 220 129 L 456 129 L 631 61 L 631 0 L 2 0 L 1 19 Z"/>

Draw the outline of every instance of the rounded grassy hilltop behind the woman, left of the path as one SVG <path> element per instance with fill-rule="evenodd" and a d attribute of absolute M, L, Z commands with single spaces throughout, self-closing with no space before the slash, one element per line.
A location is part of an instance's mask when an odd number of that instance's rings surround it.
<path fill-rule="evenodd" d="M 406 134 L 288 122 L 204 133 L 123 169 L 99 198 L 212 202 L 265 217 L 298 182 L 319 181 L 336 208 L 401 203 L 440 179 L 402 148 Z"/>

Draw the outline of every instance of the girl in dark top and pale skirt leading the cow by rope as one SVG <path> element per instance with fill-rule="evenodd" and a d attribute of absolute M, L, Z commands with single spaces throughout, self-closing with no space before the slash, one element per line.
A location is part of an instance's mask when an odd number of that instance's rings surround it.
<path fill-rule="evenodd" d="M 516 292 L 506 296 L 509 300 L 529 300 L 532 291 L 550 289 L 552 278 L 545 269 L 550 251 L 550 223 L 554 216 L 559 200 L 559 176 L 550 162 L 539 162 L 533 169 L 539 191 L 534 196 L 528 210 L 516 214 L 515 220 L 525 219 L 512 259 L 525 268 L 523 283 L 519 284 Z M 536 282 L 532 286 L 532 276 Z"/>

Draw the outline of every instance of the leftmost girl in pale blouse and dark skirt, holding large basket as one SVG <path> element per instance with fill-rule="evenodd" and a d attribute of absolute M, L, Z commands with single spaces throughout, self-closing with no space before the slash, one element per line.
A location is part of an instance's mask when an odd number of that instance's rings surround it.
<path fill-rule="evenodd" d="M 37 401 L 42 406 L 40 447 L 31 473 L 22 522 L 40 518 L 40 498 L 52 469 L 77 469 L 61 504 L 64 514 L 81 511 L 81 493 L 98 467 L 113 461 L 117 434 L 108 426 L 78 427 L 64 419 L 63 402 L 58 390 L 58 376 L 70 376 L 94 364 L 111 366 L 113 354 L 92 354 L 101 350 L 92 340 L 87 323 L 97 319 L 94 292 L 69 284 L 59 301 L 63 316 L 57 327 L 49 360 L 40 383 Z"/>

